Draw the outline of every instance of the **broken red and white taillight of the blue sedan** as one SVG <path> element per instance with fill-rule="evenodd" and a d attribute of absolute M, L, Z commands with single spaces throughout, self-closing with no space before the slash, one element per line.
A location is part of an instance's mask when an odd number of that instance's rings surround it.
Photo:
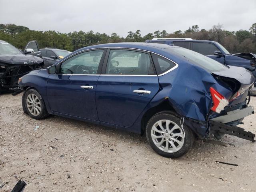
<path fill-rule="evenodd" d="M 210 87 L 210 93 L 213 101 L 211 110 L 220 113 L 228 105 L 228 100 L 212 87 Z"/>

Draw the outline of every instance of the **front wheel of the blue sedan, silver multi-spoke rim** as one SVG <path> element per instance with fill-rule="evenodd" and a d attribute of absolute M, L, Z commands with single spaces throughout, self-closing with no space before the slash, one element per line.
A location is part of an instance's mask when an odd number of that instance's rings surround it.
<path fill-rule="evenodd" d="M 43 119 L 48 115 L 41 95 L 34 89 L 25 92 L 22 104 L 28 115 L 34 119 Z"/>

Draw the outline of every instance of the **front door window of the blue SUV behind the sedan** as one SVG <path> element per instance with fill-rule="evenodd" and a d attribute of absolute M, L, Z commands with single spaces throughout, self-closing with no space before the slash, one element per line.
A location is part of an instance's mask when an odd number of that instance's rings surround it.
<path fill-rule="evenodd" d="M 203 55 L 214 55 L 214 51 L 219 51 L 214 44 L 202 42 L 193 42 L 192 50 Z"/>

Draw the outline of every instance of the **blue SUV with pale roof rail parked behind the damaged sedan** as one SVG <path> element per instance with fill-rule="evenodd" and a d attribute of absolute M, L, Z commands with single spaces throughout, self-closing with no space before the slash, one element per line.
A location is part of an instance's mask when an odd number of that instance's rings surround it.
<path fill-rule="evenodd" d="M 222 64 L 244 67 L 256 77 L 256 55 L 252 53 L 230 54 L 221 44 L 215 41 L 193 40 L 191 38 L 153 38 L 150 43 L 173 44 L 196 51 Z M 255 83 L 254 83 L 255 86 Z"/>

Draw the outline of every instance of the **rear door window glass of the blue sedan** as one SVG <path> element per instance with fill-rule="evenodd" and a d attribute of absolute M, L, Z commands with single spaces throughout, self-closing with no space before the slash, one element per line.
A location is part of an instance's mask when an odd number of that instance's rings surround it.
<path fill-rule="evenodd" d="M 106 74 L 153 75 L 154 69 L 147 53 L 130 50 L 110 50 Z"/>

